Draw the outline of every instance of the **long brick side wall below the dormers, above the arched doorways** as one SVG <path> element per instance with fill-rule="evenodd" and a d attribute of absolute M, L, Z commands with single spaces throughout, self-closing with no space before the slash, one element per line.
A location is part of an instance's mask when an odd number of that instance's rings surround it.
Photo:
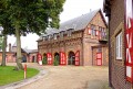
<path fill-rule="evenodd" d="M 60 52 L 64 52 L 66 55 L 66 65 L 68 65 L 68 56 L 70 52 L 76 53 L 80 51 L 80 65 L 83 65 L 82 58 L 82 31 L 72 33 L 72 36 L 64 36 L 63 40 L 51 40 L 51 41 L 40 41 L 39 53 L 41 55 L 47 53 L 52 53 L 52 59 L 54 59 L 54 54 Z"/>

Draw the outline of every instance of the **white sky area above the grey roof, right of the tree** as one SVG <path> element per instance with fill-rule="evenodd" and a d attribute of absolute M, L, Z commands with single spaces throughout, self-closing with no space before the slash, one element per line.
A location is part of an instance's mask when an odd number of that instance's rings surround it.
<path fill-rule="evenodd" d="M 96 9 L 103 9 L 103 0 L 66 0 L 60 19 L 64 22 Z"/>

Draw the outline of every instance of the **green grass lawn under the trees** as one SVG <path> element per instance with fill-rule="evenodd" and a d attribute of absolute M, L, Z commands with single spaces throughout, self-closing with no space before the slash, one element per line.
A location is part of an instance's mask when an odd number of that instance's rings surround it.
<path fill-rule="evenodd" d="M 23 70 L 13 70 L 13 66 L 0 66 L 0 86 L 8 85 L 23 79 Z M 27 78 L 33 77 L 39 73 L 38 69 L 28 68 Z"/>

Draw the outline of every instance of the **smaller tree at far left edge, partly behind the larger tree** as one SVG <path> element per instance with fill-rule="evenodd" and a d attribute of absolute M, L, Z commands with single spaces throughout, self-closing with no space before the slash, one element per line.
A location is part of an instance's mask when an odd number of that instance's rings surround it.
<path fill-rule="evenodd" d="M 7 48 L 7 31 L 9 31 L 9 34 L 12 33 L 14 30 L 11 26 L 11 21 L 9 20 L 9 13 L 7 12 L 7 7 L 2 1 L 0 1 L 0 27 L 3 27 L 1 32 L 1 37 L 2 37 L 2 44 L 0 45 L 2 49 L 2 64 L 1 66 L 6 66 L 6 48 Z M 7 33 L 6 33 L 7 32 Z"/>

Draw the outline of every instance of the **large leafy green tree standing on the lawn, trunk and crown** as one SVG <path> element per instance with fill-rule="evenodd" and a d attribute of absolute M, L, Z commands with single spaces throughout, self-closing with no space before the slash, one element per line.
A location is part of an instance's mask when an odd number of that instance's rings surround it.
<path fill-rule="evenodd" d="M 59 27 L 59 14 L 65 0 L 0 0 L 0 15 L 7 13 L 12 30 L 3 33 L 14 34 L 17 37 L 17 67 L 23 69 L 21 64 L 21 35 L 28 33 L 41 34 L 48 26 Z M 10 24 L 9 23 L 9 24 Z"/>

